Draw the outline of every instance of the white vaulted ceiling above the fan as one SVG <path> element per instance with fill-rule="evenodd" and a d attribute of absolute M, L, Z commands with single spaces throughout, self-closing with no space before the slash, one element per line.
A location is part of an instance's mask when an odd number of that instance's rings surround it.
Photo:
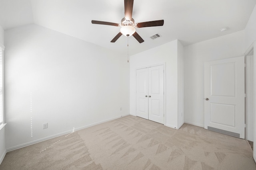
<path fill-rule="evenodd" d="M 164 20 L 161 27 L 137 28 L 144 39 L 129 37 L 130 55 L 179 39 L 190 45 L 243 30 L 256 0 L 134 0 L 135 23 Z M 91 20 L 120 23 L 124 0 L 0 0 L 0 25 L 6 30 L 36 23 L 61 33 L 127 54 L 127 37 L 110 41 L 120 27 Z M 227 31 L 221 32 L 222 27 Z M 152 40 L 159 33 L 162 37 Z"/>

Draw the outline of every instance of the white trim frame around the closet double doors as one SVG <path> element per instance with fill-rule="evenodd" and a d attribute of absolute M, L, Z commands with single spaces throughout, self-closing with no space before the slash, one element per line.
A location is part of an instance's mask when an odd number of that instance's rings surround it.
<path fill-rule="evenodd" d="M 147 66 L 142 66 L 142 67 L 138 67 L 135 68 L 135 109 L 137 108 L 137 99 L 136 99 L 136 84 L 137 84 L 137 80 L 136 80 L 136 73 L 137 70 L 142 69 L 142 68 L 148 68 L 148 67 L 154 67 L 154 66 L 160 66 L 163 65 L 164 66 L 164 125 L 166 126 L 166 63 L 158 63 L 158 64 L 152 64 L 152 65 L 147 65 Z M 137 116 L 137 113 L 135 111 L 135 115 Z"/>

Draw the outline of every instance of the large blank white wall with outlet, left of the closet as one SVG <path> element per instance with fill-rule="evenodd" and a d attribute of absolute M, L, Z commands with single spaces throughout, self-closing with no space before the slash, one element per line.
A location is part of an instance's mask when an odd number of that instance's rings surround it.
<path fill-rule="evenodd" d="M 129 114 L 126 57 L 38 25 L 5 46 L 7 150 Z"/>

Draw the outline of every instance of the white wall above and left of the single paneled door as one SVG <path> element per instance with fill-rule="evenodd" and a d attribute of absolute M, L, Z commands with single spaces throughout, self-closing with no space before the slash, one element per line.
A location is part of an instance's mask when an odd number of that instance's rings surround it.
<path fill-rule="evenodd" d="M 244 31 L 184 47 L 184 121 L 204 127 L 204 62 L 244 55 Z"/>

